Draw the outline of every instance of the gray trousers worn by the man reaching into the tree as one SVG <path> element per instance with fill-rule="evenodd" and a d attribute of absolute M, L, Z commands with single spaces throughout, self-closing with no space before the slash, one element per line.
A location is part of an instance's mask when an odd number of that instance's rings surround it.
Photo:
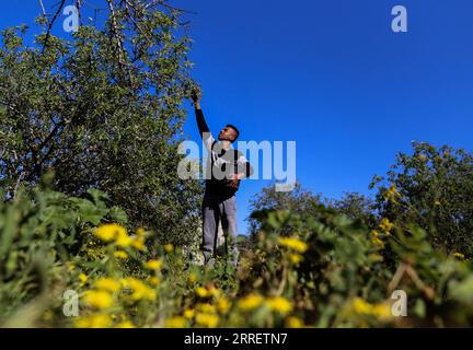
<path fill-rule="evenodd" d="M 219 195 L 206 192 L 203 201 L 203 244 L 201 249 L 206 265 L 214 266 L 214 255 L 217 250 L 219 222 L 222 224 L 224 248 L 233 266 L 238 261 L 236 246 L 236 198 L 222 198 Z"/>

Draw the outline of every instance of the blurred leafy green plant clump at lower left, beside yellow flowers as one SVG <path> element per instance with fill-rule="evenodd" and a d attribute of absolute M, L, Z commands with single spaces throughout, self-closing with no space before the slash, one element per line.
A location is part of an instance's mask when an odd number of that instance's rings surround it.
<path fill-rule="evenodd" d="M 33 300 L 38 312 L 47 307 L 73 281 L 68 264 L 88 259 L 86 234 L 104 220 L 127 223 L 122 209 L 107 208 L 105 194 L 90 189 L 86 197 L 45 187 L 0 202 L 0 319 Z"/>

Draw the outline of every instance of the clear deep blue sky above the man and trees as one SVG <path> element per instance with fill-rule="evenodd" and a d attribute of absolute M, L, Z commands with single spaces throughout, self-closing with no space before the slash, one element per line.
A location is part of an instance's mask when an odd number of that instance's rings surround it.
<path fill-rule="evenodd" d="M 231 122 L 242 140 L 297 141 L 297 177 L 314 192 L 369 194 L 412 140 L 473 150 L 471 0 L 171 3 L 197 12 L 191 58 L 210 129 Z M 396 4 L 407 8 L 408 33 L 391 31 Z M 2 3 L 1 27 L 38 10 Z M 199 140 L 191 107 L 185 130 Z M 243 182 L 239 232 L 265 185 Z"/>

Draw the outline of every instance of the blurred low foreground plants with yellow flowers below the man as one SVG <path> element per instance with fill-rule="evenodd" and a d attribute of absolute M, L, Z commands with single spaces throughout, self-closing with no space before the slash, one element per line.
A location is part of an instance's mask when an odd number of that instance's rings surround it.
<path fill-rule="evenodd" d="M 131 233 L 105 201 L 95 190 L 67 199 L 43 189 L 2 205 L 2 326 L 473 324 L 471 261 L 435 249 L 416 224 L 383 218 L 373 231 L 323 205 L 313 217 L 263 210 L 253 214 L 259 233 L 238 269 L 224 260 L 206 269 L 178 247 L 150 244 L 145 229 Z M 393 316 L 394 290 L 407 293 L 407 317 Z M 64 313 L 66 291 L 79 295 L 77 317 Z"/>

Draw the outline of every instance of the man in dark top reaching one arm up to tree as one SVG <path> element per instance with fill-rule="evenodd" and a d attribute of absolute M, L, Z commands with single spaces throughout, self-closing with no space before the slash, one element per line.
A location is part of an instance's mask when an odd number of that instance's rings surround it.
<path fill-rule="evenodd" d="M 203 200 L 203 244 L 205 264 L 214 266 L 219 222 L 226 237 L 226 254 L 230 245 L 231 262 L 236 267 L 236 198 L 240 180 L 253 174 L 253 167 L 243 154 L 231 148 L 240 131 L 233 125 L 221 129 L 218 140 L 214 139 L 200 108 L 199 96 L 193 93 L 197 126 L 204 144 L 209 152 L 206 168 L 206 190 Z M 230 241 L 230 242 L 229 242 Z"/>

